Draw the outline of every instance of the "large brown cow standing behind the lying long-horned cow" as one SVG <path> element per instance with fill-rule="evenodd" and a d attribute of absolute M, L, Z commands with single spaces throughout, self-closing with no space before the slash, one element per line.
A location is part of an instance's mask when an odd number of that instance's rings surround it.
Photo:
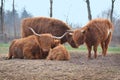
<path fill-rule="evenodd" d="M 66 23 L 58 19 L 47 17 L 26 18 L 22 21 L 21 26 L 23 38 L 33 34 L 28 27 L 33 28 L 38 34 L 50 33 L 57 37 L 62 36 L 67 30 L 71 30 Z M 72 47 L 77 48 L 69 33 L 61 39 L 61 44 L 65 42 L 68 42 Z"/>

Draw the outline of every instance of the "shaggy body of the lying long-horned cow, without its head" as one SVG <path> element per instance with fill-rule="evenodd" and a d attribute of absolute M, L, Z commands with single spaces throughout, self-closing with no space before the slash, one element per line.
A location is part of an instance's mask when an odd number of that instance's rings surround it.
<path fill-rule="evenodd" d="M 11 58 L 26 58 L 40 59 L 42 58 L 41 49 L 36 42 L 36 36 L 31 35 L 26 38 L 15 39 L 9 47 L 8 59 Z"/>

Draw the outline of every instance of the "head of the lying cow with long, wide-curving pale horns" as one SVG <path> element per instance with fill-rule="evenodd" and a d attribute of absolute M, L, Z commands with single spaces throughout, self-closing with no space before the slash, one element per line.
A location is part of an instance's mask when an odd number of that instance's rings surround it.
<path fill-rule="evenodd" d="M 48 52 L 51 48 L 60 44 L 60 39 L 66 35 L 66 33 L 61 37 L 52 36 L 51 34 L 37 34 L 32 28 L 30 30 L 36 35 L 36 41 L 39 47 L 44 51 Z"/>

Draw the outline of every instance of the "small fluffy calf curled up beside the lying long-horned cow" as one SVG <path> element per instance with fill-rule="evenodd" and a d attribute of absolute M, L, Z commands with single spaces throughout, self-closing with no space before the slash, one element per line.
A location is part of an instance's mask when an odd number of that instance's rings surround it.
<path fill-rule="evenodd" d="M 63 45 L 58 45 L 55 48 L 51 49 L 47 60 L 69 60 L 70 54 Z"/>

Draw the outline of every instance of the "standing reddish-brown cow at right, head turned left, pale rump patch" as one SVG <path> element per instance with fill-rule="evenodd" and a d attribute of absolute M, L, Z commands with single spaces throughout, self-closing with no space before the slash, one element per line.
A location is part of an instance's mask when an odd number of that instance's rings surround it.
<path fill-rule="evenodd" d="M 112 38 L 113 24 L 107 19 L 91 20 L 84 27 L 73 31 L 73 40 L 76 45 L 82 45 L 84 42 L 88 49 L 88 58 L 91 58 L 91 49 L 93 46 L 94 57 L 97 57 L 97 47 L 101 44 L 102 54 L 107 53 L 108 45 Z"/>

